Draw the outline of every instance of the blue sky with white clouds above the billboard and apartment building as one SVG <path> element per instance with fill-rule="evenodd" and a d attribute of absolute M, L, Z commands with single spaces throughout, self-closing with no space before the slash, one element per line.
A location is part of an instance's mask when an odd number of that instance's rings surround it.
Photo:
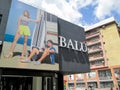
<path fill-rule="evenodd" d="M 114 17 L 120 25 L 120 0 L 19 0 L 64 20 L 88 27 Z"/>

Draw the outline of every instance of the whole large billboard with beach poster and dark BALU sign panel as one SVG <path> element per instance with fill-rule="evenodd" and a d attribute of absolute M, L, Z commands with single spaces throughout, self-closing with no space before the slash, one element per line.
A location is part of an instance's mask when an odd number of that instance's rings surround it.
<path fill-rule="evenodd" d="M 21 1 L 11 0 L 0 67 L 89 71 L 84 29 Z"/>

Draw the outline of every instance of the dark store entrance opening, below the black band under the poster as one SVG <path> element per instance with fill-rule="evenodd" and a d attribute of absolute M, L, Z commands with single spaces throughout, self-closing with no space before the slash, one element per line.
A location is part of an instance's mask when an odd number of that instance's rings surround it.
<path fill-rule="evenodd" d="M 0 90 L 58 90 L 58 80 L 48 76 L 2 76 Z"/>

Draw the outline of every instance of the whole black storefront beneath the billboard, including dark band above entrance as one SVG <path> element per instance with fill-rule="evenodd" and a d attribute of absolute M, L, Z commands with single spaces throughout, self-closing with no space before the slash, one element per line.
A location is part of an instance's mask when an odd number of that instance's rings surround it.
<path fill-rule="evenodd" d="M 63 75 L 58 72 L 1 68 L 0 90 L 63 90 Z"/>

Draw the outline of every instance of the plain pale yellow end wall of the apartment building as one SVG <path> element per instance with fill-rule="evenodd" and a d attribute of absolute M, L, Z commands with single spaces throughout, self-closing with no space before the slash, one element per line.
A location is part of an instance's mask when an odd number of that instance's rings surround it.
<path fill-rule="evenodd" d="M 108 58 L 108 66 L 120 65 L 120 37 L 115 23 L 100 30 L 103 36 L 104 49 Z"/>

